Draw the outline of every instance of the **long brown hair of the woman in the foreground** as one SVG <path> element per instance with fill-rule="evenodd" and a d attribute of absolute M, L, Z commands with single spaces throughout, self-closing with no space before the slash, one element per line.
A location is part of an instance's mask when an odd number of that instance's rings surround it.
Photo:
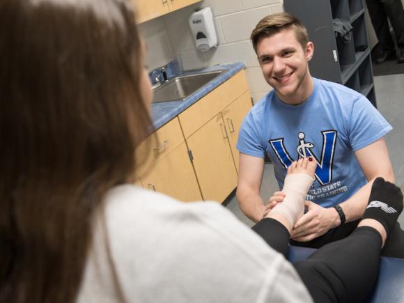
<path fill-rule="evenodd" d="M 0 302 L 74 302 L 150 118 L 124 0 L 0 1 Z"/>

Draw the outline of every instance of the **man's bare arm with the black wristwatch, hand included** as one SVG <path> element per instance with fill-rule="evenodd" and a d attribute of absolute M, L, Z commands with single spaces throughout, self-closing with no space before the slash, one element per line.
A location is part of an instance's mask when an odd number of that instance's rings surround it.
<path fill-rule="evenodd" d="M 389 152 L 383 138 L 357 150 L 355 156 L 369 182 L 340 204 L 347 222 L 362 217 L 368 205 L 375 178 L 382 177 L 384 180 L 395 182 Z M 296 222 L 291 238 L 306 242 L 327 233 L 330 228 L 339 226 L 339 224 L 341 224 L 341 220 L 334 208 L 322 208 L 311 202 L 309 211 Z"/>

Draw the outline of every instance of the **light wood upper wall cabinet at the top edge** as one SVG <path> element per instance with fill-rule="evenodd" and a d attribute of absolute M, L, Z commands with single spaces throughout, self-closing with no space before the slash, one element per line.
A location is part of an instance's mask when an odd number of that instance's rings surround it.
<path fill-rule="evenodd" d="M 137 22 L 145 22 L 201 0 L 132 0 Z"/>

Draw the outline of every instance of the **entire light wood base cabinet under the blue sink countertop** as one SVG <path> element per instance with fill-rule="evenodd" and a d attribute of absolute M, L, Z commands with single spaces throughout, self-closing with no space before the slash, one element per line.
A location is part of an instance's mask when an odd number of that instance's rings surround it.
<path fill-rule="evenodd" d="M 241 70 L 143 141 L 137 158 L 152 155 L 138 171 L 141 185 L 180 201 L 223 202 L 237 185 L 235 145 L 251 106 Z"/>

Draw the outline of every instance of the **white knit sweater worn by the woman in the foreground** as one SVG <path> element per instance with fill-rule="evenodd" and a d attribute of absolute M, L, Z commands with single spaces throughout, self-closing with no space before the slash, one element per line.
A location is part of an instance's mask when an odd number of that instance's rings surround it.
<path fill-rule="evenodd" d="M 127 302 L 311 302 L 290 263 L 218 203 L 121 185 L 104 215 Z M 116 302 L 101 222 L 79 303 Z"/>

